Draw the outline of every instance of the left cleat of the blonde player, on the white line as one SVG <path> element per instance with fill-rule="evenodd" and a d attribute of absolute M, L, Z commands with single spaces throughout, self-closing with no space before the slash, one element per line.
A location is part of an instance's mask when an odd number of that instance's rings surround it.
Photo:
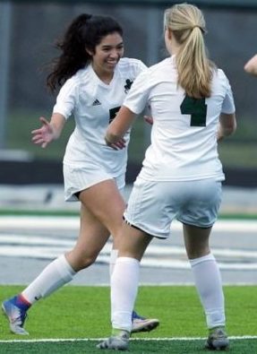
<path fill-rule="evenodd" d="M 97 348 L 100 350 L 128 350 L 130 333 L 122 330 L 114 330 L 111 337 L 101 341 Z"/>

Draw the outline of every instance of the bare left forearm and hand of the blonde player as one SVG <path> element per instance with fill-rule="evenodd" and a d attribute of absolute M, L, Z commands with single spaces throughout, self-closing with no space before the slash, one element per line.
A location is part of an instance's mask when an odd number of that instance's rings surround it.
<path fill-rule="evenodd" d="M 108 146 L 113 148 L 114 145 L 119 144 L 123 140 L 124 134 L 128 131 L 128 129 L 133 125 L 133 120 L 136 115 L 126 107 L 120 108 L 118 111 L 116 118 L 112 121 L 112 123 L 107 128 L 107 134 L 105 136 L 105 140 Z M 121 148 L 116 145 L 117 148 Z"/>

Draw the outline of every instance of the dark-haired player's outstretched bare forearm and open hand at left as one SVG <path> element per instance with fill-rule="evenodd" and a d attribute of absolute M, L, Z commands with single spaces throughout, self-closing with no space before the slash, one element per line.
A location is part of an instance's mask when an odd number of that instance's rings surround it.
<path fill-rule="evenodd" d="M 42 148 L 46 148 L 49 142 L 58 139 L 62 133 L 65 118 L 59 113 L 54 113 L 50 122 L 44 117 L 40 117 L 39 120 L 42 126 L 31 132 L 32 142 L 41 145 Z"/>

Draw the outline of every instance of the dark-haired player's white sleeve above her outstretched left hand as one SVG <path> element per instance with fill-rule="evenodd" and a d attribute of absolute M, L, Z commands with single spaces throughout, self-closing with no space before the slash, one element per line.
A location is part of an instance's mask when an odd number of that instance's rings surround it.
<path fill-rule="evenodd" d="M 66 119 L 71 117 L 76 102 L 76 85 L 73 80 L 67 80 L 59 91 L 53 113 L 60 113 Z"/>

